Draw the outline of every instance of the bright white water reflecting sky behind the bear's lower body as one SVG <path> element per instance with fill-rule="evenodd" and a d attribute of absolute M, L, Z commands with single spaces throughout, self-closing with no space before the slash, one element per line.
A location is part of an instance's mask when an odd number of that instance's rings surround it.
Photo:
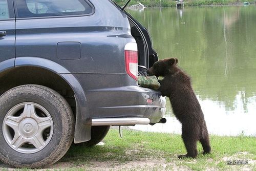
<path fill-rule="evenodd" d="M 209 134 L 256 136 L 256 115 L 253 112 L 244 114 L 244 106 L 243 103 L 241 103 L 241 97 L 242 95 L 240 94 L 236 98 L 237 108 L 235 111 L 226 111 L 224 104 L 219 101 L 212 101 L 210 99 L 201 100 L 199 98 Z M 250 100 L 255 102 L 255 98 Z M 250 103 L 247 109 L 249 109 L 249 111 L 255 111 L 256 106 Z M 165 124 L 157 123 L 154 126 L 136 125 L 130 127 L 141 131 L 181 134 L 180 122 L 173 115 L 167 115 L 166 119 L 167 122 Z"/>

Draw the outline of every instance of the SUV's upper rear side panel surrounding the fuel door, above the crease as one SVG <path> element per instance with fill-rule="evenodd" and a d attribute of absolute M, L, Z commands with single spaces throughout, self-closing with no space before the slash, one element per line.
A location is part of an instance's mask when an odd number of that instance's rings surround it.
<path fill-rule="evenodd" d="M 16 58 L 46 58 L 71 73 L 125 73 L 120 56 L 127 42 L 134 41 L 127 17 L 109 1 L 93 3 L 95 12 L 89 16 L 17 18 Z M 79 42 L 81 58 L 58 59 L 61 42 Z"/>

